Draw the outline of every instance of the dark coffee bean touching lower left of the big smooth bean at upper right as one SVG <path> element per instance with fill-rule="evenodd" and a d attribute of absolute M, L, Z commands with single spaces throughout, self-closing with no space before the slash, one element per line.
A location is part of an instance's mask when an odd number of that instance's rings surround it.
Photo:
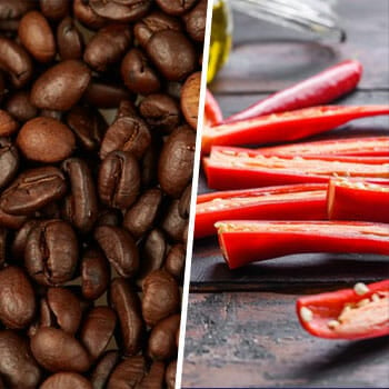
<path fill-rule="evenodd" d="M 161 88 L 158 74 L 139 49 L 131 49 L 123 58 L 121 77 L 126 87 L 136 93 L 150 94 L 158 92 Z"/>

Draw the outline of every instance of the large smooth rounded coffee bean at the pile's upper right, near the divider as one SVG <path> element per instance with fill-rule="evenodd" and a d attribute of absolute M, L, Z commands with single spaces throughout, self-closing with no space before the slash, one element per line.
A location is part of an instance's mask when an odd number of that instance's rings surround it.
<path fill-rule="evenodd" d="M 181 81 L 196 69 L 194 47 L 182 32 L 156 32 L 147 42 L 146 51 L 169 81 Z"/>

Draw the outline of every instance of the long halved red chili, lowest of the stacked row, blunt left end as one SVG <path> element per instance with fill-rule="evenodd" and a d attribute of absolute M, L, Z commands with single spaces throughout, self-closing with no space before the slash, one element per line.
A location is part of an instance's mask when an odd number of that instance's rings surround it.
<path fill-rule="evenodd" d="M 389 255 L 389 228 L 357 221 L 250 221 L 216 223 L 230 269 L 276 257 L 305 252 Z"/>

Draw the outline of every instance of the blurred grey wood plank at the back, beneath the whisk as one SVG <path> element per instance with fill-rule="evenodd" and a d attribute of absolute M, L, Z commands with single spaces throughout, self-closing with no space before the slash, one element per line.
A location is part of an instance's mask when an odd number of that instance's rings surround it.
<path fill-rule="evenodd" d="M 211 84 L 218 93 L 276 91 L 345 59 L 365 67 L 361 89 L 389 88 L 389 2 L 339 1 L 345 43 L 315 42 L 309 36 L 235 13 L 235 47 Z"/>

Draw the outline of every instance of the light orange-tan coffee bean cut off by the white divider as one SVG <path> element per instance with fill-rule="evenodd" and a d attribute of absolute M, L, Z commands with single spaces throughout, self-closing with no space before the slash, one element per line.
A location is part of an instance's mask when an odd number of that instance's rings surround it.
<path fill-rule="evenodd" d="M 188 124 L 196 130 L 199 111 L 201 72 L 189 76 L 181 89 L 181 110 Z"/>

